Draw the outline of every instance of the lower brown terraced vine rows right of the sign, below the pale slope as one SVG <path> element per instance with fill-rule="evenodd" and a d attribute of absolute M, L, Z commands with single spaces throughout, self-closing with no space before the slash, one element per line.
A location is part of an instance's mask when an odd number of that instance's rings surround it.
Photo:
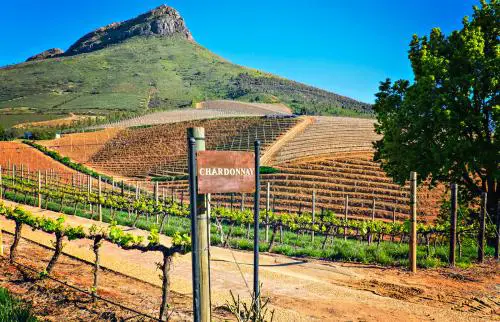
<path fill-rule="evenodd" d="M 348 217 L 402 221 L 409 214 L 409 186 L 392 182 L 371 160 L 369 153 L 330 157 L 314 162 L 286 163 L 277 166 L 279 173 L 263 175 L 261 206 L 266 205 L 266 188 L 270 184 L 270 208 L 283 212 L 311 212 L 313 191 L 316 211 L 332 210 L 343 216 L 348 196 Z M 169 195 L 188 196 L 187 181 L 161 184 Z M 418 191 L 419 220 L 431 222 L 438 214 L 444 187 Z M 214 205 L 241 207 L 241 195 L 212 194 Z M 231 202 L 232 201 L 232 202 Z M 375 205 L 375 207 L 374 207 Z M 253 207 L 253 197 L 244 197 L 244 208 Z"/>

